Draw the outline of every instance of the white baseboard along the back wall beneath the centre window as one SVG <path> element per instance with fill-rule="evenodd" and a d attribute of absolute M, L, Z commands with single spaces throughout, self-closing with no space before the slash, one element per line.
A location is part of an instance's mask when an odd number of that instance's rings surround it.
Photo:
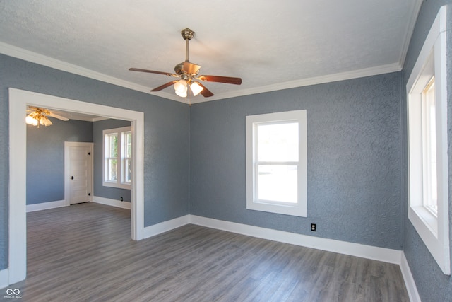
<path fill-rule="evenodd" d="M 217 228 L 222 231 L 239 233 L 246 236 L 253 236 L 282 243 L 300 245 L 307 248 L 316 248 L 328 252 L 338 252 L 340 254 L 363 257 L 371 260 L 378 260 L 400 265 L 401 250 L 391 250 L 388 248 L 377 248 L 371 245 L 359 243 L 349 243 L 340 240 L 306 236 L 285 231 L 276 231 L 270 228 L 249 226 L 242 223 L 210 219 L 206 217 L 190 215 L 190 223 L 208 228 Z"/>

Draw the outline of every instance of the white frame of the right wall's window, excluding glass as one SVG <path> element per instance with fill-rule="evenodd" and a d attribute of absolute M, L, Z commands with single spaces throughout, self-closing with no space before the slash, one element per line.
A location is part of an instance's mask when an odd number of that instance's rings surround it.
<path fill-rule="evenodd" d="M 424 201 L 422 150 L 422 92 L 435 78 L 436 215 Z M 408 219 L 444 274 L 451 274 L 448 221 L 446 9 L 441 7 L 407 83 Z M 425 139 L 425 138 L 424 138 Z"/>

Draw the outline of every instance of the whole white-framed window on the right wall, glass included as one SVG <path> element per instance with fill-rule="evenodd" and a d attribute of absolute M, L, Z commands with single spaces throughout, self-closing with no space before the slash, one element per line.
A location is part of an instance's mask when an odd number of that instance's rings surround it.
<path fill-rule="evenodd" d="M 441 8 L 407 83 L 408 219 L 444 274 L 451 274 L 445 17 Z"/>

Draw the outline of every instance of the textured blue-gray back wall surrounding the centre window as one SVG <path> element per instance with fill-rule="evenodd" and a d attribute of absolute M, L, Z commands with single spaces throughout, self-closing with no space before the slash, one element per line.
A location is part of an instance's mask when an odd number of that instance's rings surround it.
<path fill-rule="evenodd" d="M 401 250 L 401 83 L 394 73 L 192 105 L 190 213 Z M 308 217 L 247 210 L 246 115 L 300 109 Z"/>

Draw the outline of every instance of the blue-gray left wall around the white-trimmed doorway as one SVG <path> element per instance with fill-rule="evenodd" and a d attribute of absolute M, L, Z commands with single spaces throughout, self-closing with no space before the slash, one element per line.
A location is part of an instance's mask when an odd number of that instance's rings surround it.
<path fill-rule="evenodd" d="M 144 112 L 144 224 L 189 213 L 189 106 L 0 54 L 0 269 L 8 267 L 9 87 Z"/>

